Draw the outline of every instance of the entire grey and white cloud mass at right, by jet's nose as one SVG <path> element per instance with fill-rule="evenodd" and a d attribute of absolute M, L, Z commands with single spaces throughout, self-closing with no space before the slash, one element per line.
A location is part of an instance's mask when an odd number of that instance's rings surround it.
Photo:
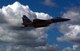
<path fill-rule="evenodd" d="M 60 26 L 60 31 L 64 34 L 57 39 L 74 44 L 80 44 L 80 8 L 72 8 L 64 13 L 64 18 L 71 19 Z"/>

